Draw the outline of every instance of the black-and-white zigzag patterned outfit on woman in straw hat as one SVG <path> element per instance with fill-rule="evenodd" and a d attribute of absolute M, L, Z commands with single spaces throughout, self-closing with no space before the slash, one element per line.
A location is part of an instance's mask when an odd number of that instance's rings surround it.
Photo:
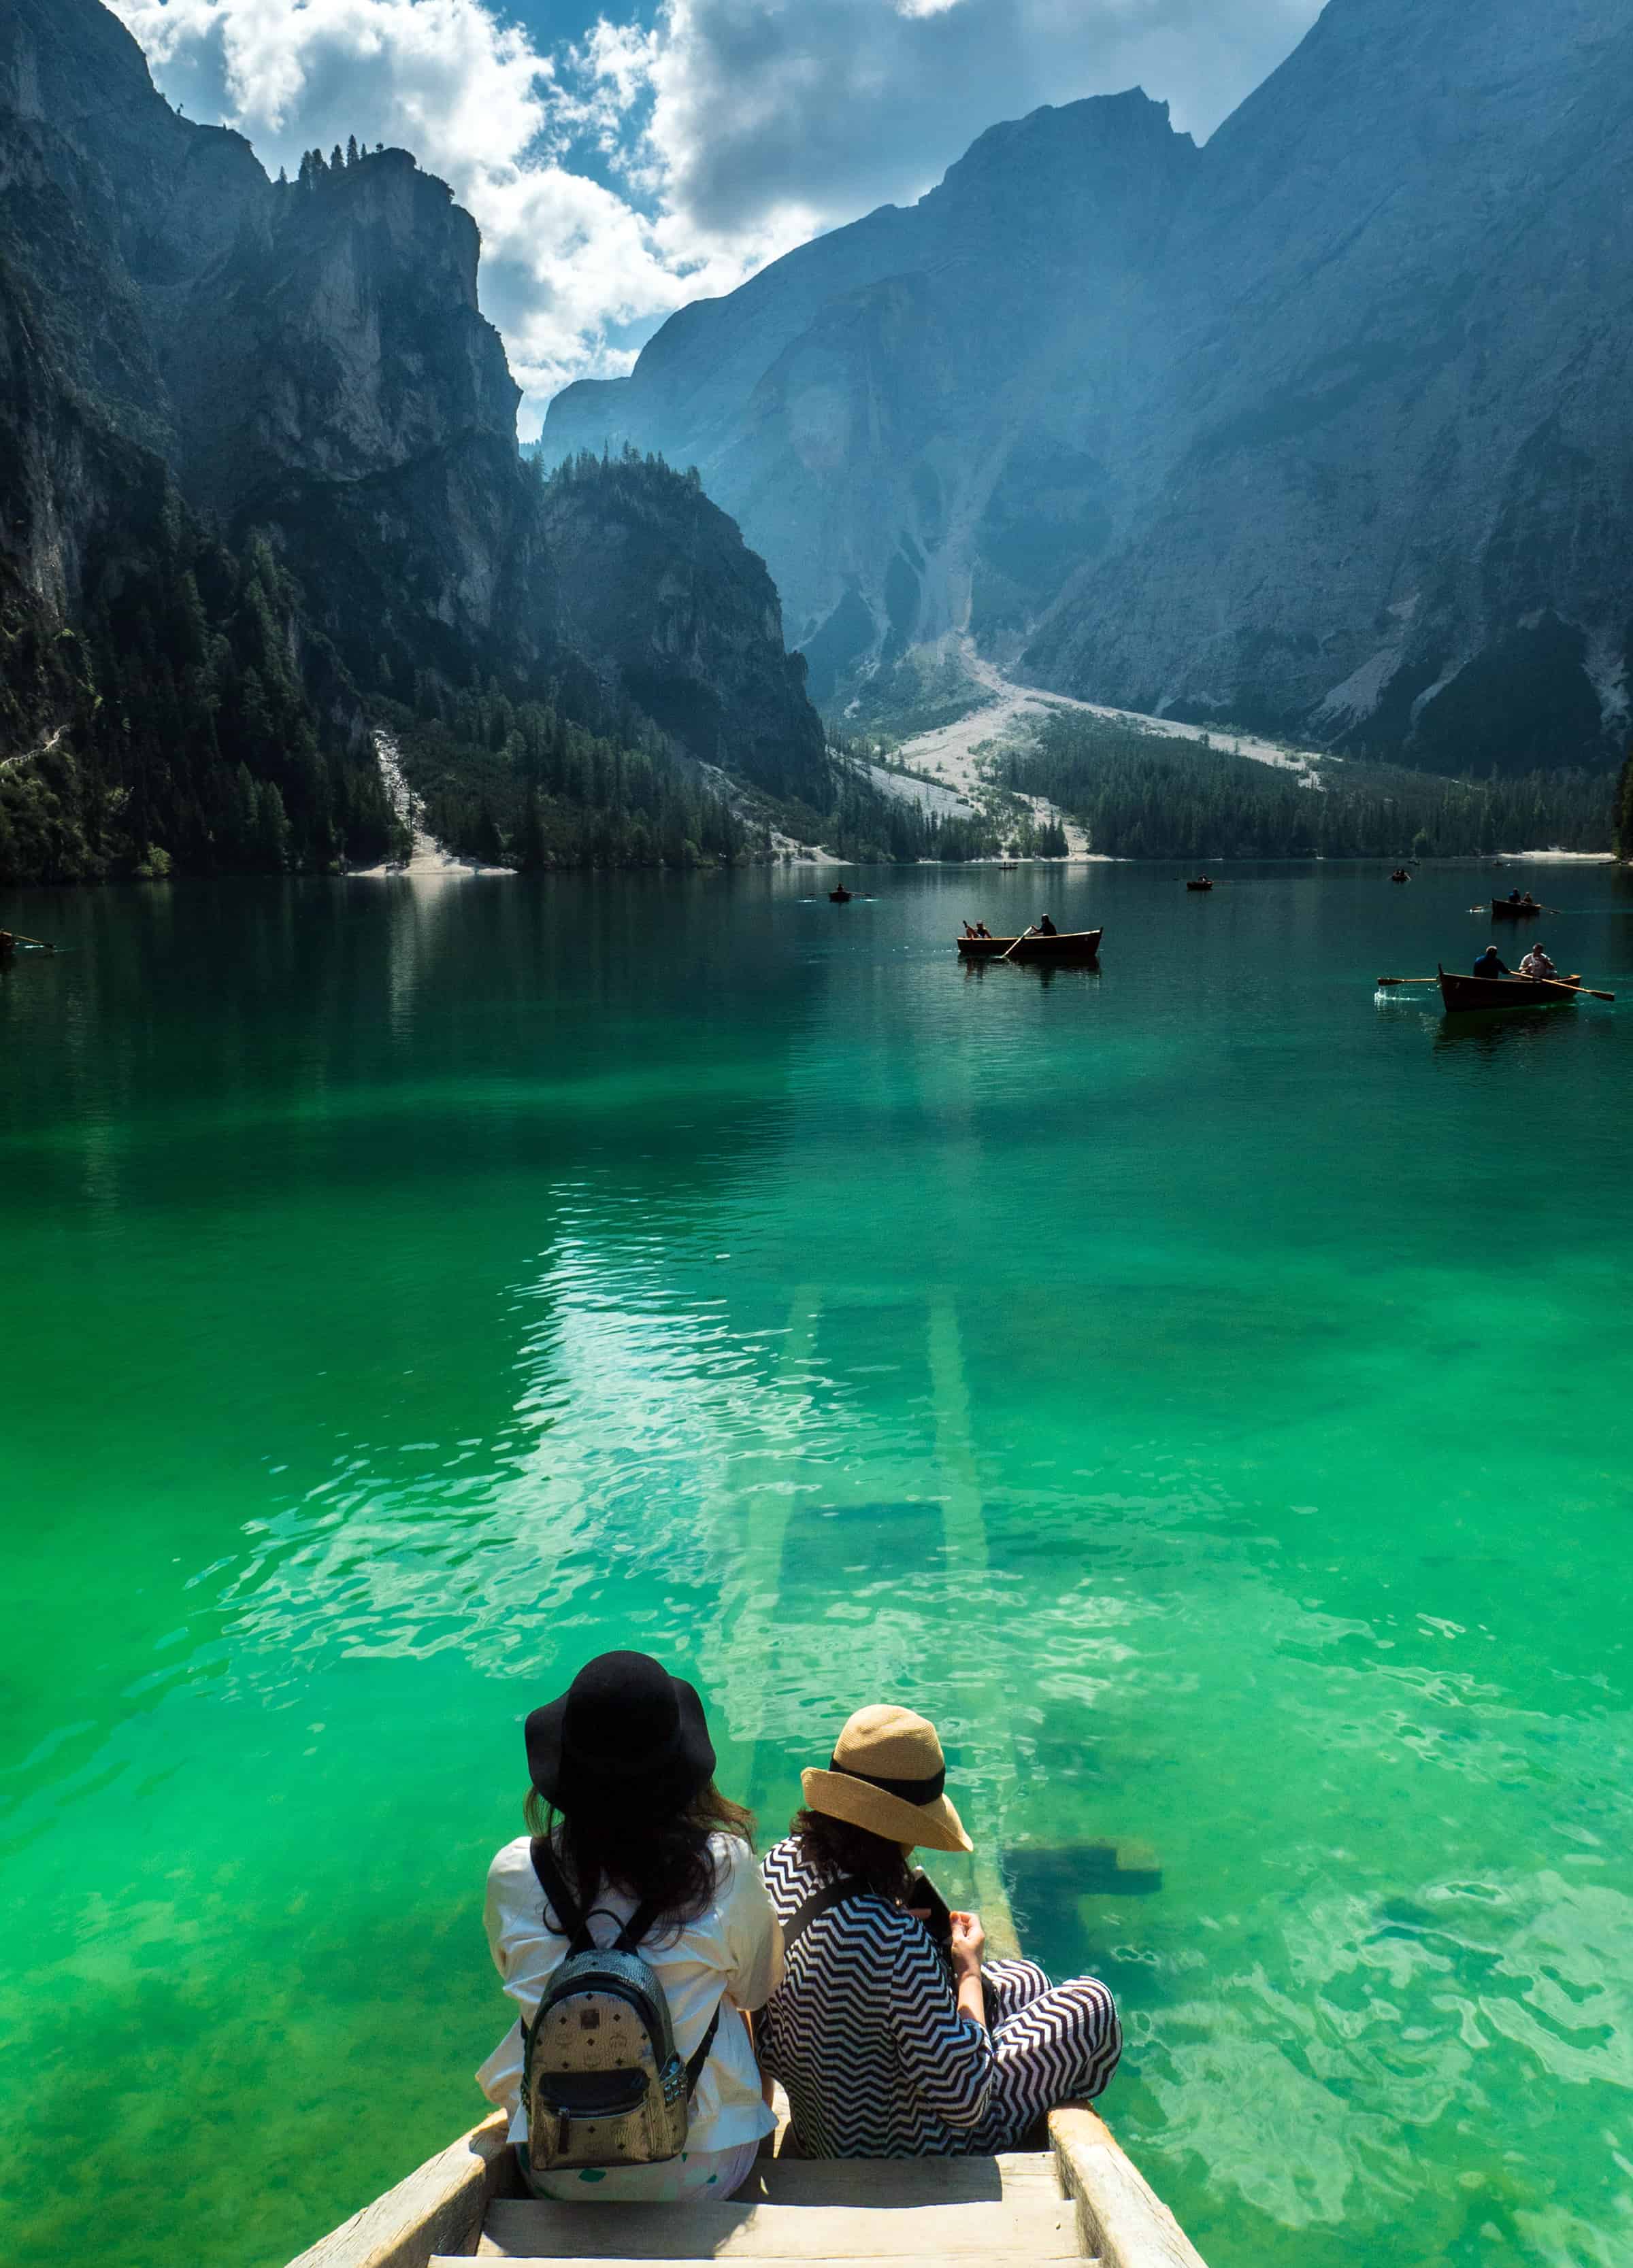
<path fill-rule="evenodd" d="M 821 1887 L 794 1837 L 764 1860 L 778 1921 Z M 889 1898 L 830 1907 L 789 1946 L 760 2019 L 810 2157 L 964 2157 L 1014 2150 L 1055 2102 L 1098 2096 L 1123 2053 L 1095 1978 L 1050 1984 L 1037 1962 L 989 1962 L 984 2032 L 959 2016 L 921 1921 Z"/>

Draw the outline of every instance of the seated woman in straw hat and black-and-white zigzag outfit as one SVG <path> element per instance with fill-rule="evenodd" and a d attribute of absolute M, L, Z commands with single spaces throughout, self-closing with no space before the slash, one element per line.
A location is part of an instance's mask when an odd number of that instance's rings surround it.
<path fill-rule="evenodd" d="M 941 1742 L 905 1708 L 857 1710 L 764 1876 L 785 1975 L 760 2023 L 810 2157 L 1012 2150 L 1055 2102 L 1098 2096 L 1123 2030 L 1095 1978 L 1050 1984 L 1034 1962 L 982 1966 L 975 1914 L 939 1946 L 909 1905 L 907 1857 L 968 1851 Z"/>

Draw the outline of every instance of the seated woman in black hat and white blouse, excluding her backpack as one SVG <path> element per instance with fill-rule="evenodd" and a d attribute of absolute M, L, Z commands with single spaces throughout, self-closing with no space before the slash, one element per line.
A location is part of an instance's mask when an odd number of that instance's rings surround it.
<path fill-rule="evenodd" d="M 753 1860 L 753 1819 L 714 1787 L 703 1703 L 646 1653 L 603 1653 L 526 1721 L 531 1835 L 488 1869 L 488 1944 L 522 2023 L 476 2073 L 526 2143 L 522 2048 L 526 2025 L 567 1957 L 567 1935 L 535 1871 L 533 1837 L 562 1882 L 612 1935 L 637 1905 L 658 1921 L 642 1939 L 674 2019 L 678 2055 L 694 2057 L 719 2009 L 696 2080 L 685 2155 L 653 2166 L 526 2173 L 540 2195 L 728 2198 L 751 2173 L 773 2118 L 760 2091 L 748 2028 L 737 2009 L 764 2007 L 782 1975 L 782 1935 Z"/>

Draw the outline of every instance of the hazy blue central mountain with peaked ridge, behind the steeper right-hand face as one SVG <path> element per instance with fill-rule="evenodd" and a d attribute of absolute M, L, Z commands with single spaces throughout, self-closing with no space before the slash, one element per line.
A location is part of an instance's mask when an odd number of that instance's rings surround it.
<path fill-rule="evenodd" d="M 968 621 L 1014 642 L 1105 542 L 1129 299 L 1195 161 L 1139 93 L 993 127 L 912 211 L 685 308 L 628 379 L 569 388 L 547 445 L 696 463 L 773 562 L 819 699 Z"/>

